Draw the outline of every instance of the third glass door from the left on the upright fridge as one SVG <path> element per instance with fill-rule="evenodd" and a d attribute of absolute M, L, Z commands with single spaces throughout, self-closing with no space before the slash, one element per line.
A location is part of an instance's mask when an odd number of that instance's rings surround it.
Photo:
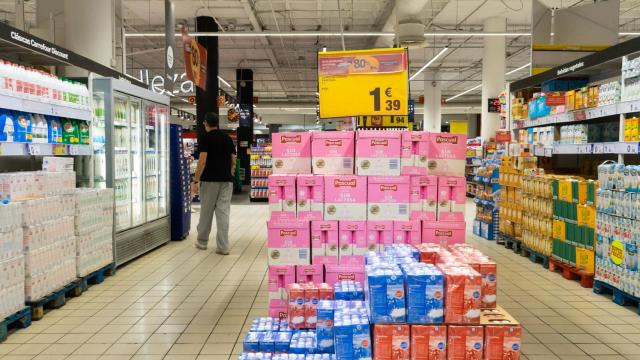
<path fill-rule="evenodd" d="M 144 131 L 145 209 L 147 221 L 158 218 L 158 128 L 156 106 L 146 105 Z"/>

